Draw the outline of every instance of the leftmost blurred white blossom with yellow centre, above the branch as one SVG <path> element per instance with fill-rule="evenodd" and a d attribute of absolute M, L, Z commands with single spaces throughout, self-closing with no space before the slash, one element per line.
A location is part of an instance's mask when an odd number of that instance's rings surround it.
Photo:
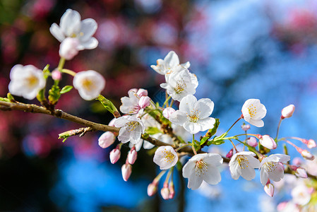
<path fill-rule="evenodd" d="M 32 65 L 22 66 L 18 64 L 13 66 L 10 72 L 10 79 L 9 92 L 28 100 L 34 99 L 46 84 L 42 70 Z"/>

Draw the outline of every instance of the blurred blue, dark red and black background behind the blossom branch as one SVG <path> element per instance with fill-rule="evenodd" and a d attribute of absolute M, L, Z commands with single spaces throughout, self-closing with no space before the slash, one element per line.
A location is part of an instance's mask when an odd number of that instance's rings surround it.
<path fill-rule="evenodd" d="M 116 107 L 131 88 L 148 89 L 152 100 L 164 101 L 164 76 L 150 65 L 174 50 L 181 63 L 191 62 L 199 82 L 196 97 L 215 102 L 212 117 L 220 119 L 219 134 L 239 118 L 245 100 L 258 98 L 268 113 L 265 126 L 251 126 L 250 133 L 275 136 L 280 111 L 294 104 L 280 136 L 317 140 L 317 1 L 1 0 L 1 97 L 8 93 L 15 64 L 56 68 L 59 42 L 49 27 L 59 24 L 67 8 L 97 21 L 99 45 L 80 51 L 64 67 L 102 73 L 107 81 L 102 95 Z M 72 78 L 64 76 L 61 85 L 71 84 Z M 75 89 L 56 107 L 102 124 L 112 119 L 100 103 L 81 99 Z M 243 133 L 242 123 L 230 134 Z M 258 172 L 252 182 L 232 179 L 227 165 L 216 186 L 191 191 L 175 171 L 174 199 L 149 197 L 148 184 L 159 172 L 152 155 L 140 151 L 124 182 L 121 165 L 128 148 L 112 165 L 109 151 L 115 144 L 100 148 L 102 132 L 65 143 L 58 139 L 59 133 L 79 127 L 44 114 L 0 111 L 0 211 L 276 211 L 278 203 L 291 198 L 283 187 L 275 197 L 267 196 Z M 225 143 L 209 150 L 225 155 L 230 148 Z M 282 153 L 282 145 L 273 152 Z M 291 146 L 289 152 L 300 156 Z"/>

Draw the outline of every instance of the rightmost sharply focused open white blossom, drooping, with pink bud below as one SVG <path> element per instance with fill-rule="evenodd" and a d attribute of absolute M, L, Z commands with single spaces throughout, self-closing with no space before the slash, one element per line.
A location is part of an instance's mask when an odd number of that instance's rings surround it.
<path fill-rule="evenodd" d="M 289 155 L 274 154 L 261 161 L 261 183 L 265 185 L 268 179 L 279 182 L 284 177 L 284 166 L 290 160 Z"/>

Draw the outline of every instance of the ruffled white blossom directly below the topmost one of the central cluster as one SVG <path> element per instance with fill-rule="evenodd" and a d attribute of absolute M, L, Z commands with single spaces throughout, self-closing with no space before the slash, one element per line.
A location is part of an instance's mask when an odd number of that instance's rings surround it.
<path fill-rule="evenodd" d="M 181 101 L 186 95 L 195 94 L 198 80 L 195 74 L 188 69 L 172 72 L 165 76 L 166 83 L 160 86 L 165 88 L 173 100 Z"/>

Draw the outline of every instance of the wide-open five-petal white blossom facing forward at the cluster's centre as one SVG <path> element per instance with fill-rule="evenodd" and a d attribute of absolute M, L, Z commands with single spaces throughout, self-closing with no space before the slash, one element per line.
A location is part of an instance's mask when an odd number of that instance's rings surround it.
<path fill-rule="evenodd" d="M 213 107 L 213 101 L 208 98 L 197 100 L 193 95 L 187 95 L 181 100 L 179 110 L 170 115 L 169 121 L 183 126 L 191 134 L 196 134 L 213 128 L 215 119 L 209 117 Z"/>

